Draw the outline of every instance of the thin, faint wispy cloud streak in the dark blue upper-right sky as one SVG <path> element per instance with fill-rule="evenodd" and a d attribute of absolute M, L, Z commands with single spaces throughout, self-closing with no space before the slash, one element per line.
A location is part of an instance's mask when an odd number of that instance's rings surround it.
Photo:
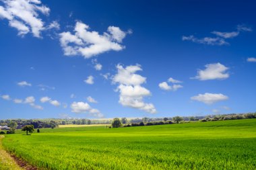
<path fill-rule="evenodd" d="M 222 45 L 229 44 L 228 42 L 226 42 L 226 39 L 234 38 L 234 37 L 238 36 L 241 32 L 251 32 L 251 31 L 253 31 L 253 30 L 248 26 L 238 25 L 238 26 L 236 26 L 236 31 L 234 31 L 234 32 L 219 32 L 219 31 L 211 32 L 211 34 L 214 34 L 216 37 L 208 37 L 207 36 L 204 38 L 197 38 L 197 37 L 191 35 L 191 36 L 183 36 L 182 40 L 183 41 L 191 41 L 191 42 L 195 42 L 198 44 L 222 46 Z"/>

